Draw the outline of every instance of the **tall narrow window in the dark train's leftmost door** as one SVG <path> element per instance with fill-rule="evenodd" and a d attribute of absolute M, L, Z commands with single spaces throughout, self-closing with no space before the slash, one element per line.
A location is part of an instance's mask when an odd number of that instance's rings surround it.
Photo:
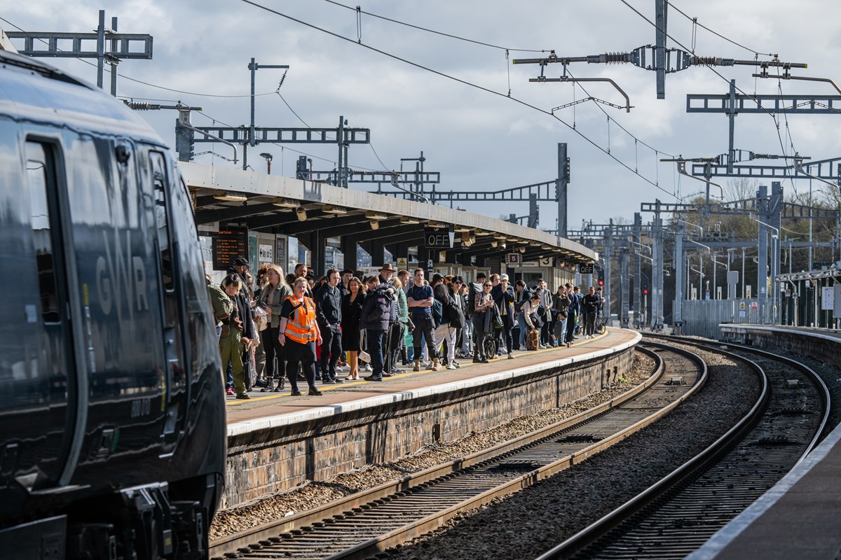
<path fill-rule="evenodd" d="M 61 321 L 56 284 L 56 259 L 50 226 L 50 192 L 56 192 L 56 158 L 47 144 L 26 143 L 26 181 L 29 192 L 29 224 L 32 227 L 41 318 L 45 323 Z"/>

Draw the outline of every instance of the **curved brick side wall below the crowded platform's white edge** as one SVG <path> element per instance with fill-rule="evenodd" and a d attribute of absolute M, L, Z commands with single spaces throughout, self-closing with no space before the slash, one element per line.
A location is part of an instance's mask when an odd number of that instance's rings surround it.
<path fill-rule="evenodd" d="M 631 347 L 514 379 L 231 436 L 221 507 L 394 461 L 426 444 L 452 442 L 557 408 L 615 382 L 632 360 Z"/>

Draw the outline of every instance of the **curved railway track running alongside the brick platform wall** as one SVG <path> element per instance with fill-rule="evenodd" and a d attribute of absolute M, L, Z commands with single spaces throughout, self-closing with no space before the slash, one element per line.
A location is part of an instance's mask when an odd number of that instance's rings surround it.
<path fill-rule="evenodd" d="M 664 416 L 706 380 L 695 354 L 646 346 L 657 371 L 621 397 L 482 453 L 212 542 L 211 556 L 370 557 L 579 463 Z"/>

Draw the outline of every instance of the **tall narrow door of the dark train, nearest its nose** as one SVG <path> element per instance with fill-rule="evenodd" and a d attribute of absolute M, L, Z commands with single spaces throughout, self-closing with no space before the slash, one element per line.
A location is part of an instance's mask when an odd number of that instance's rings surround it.
<path fill-rule="evenodd" d="M 182 307 L 182 283 L 179 275 L 179 257 L 176 233 L 172 228 L 172 177 L 167 157 L 158 151 L 149 153 L 149 169 L 154 191 L 155 228 L 158 265 L 161 274 L 161 315 L 163 318 L 163 344 L 166 353 L 167 421 L 164 438 L 176 442 L 187 415 L 189 399 L 188 360 L 185 357 Z"/>

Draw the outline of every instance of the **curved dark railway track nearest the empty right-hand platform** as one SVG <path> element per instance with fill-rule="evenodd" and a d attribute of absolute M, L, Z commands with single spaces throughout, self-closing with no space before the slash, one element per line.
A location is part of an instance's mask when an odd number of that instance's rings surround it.
<path fill-rule="evenodd" d="M 707 350 L 715 346 L 669 340 Z M 743 421 L 669 477 L 538 560 L 683 558 L 812 449 L 829 411 L 820 377 L 795 360 L 756 349 L 738 347 L 729 355 L 764 377 L 763 394 Z"/>

